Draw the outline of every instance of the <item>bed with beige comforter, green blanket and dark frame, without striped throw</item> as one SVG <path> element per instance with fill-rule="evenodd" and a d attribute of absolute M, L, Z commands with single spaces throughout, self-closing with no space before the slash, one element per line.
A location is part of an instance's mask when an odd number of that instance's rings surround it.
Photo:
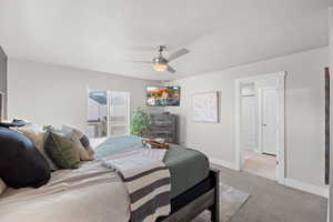
<path fill-rule="evenodd" d="M 97 147 L 97 158 L 117 150 L 140 148 L 141 138 L 108 139 Z M 171 174 L 171 213 L 158 222 L 188 222 L 204 210 L 219 221 L 219 171 L 209 168 L 200 152 L 171 145 L 164 159 Z M 119 175 L 99 161 L 78 170 L 59 170 L 40 189 L 8 189 L 0 198 L 0 221 L 131 221 L 127 191 Z"/>

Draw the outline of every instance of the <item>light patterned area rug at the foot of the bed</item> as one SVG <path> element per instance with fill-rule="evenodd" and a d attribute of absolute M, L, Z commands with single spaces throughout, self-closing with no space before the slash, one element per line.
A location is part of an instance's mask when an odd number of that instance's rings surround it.
<path fill-rule="evenodd" d="M 226 184 L 220 183 L 220 222 L 228 222 L 246 202 L 250 194 Z M 192 222 L 210 222 L 210 212 L 205 211 Z"/>

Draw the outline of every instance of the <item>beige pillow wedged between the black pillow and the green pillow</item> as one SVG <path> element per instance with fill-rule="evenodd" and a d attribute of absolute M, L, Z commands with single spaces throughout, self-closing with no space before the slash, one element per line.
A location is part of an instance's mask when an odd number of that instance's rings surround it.
<path fill-rule="evenodd" d="M 58 167 L 54 164 L 54 162 L 49 158 L 47 154 L 44 147 L 43 147 L 43 141 L 44 141 L 44 131 L 43 128 L 38 125 L 38 124 L 32 124 L 29 123 L 23 128 L 18 128 L 17 129 L 19 132 L 23 133 L 28 139 L 30 139 L 37 149 L 40 151 L 40 153 L 46 158 L 48 161 L 51 171 L 58 170 Z"/>

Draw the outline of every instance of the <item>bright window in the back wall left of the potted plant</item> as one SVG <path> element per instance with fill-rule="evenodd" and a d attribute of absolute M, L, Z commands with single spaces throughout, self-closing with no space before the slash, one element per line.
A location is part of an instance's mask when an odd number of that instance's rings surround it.
<path fill-rule="evenodd" d="M 130 93 L 90 90 L 88 97 L 88 135 L 90 138 L 129 134 Z"/>

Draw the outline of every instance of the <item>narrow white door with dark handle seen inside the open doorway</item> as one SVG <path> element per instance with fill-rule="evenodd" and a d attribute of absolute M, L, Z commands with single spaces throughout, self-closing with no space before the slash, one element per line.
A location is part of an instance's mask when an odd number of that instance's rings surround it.
<path fill-rule="evenodd" d="M 262 89 L 262 152 L 276 155 L 278 152 L 278 91 Z"/>

